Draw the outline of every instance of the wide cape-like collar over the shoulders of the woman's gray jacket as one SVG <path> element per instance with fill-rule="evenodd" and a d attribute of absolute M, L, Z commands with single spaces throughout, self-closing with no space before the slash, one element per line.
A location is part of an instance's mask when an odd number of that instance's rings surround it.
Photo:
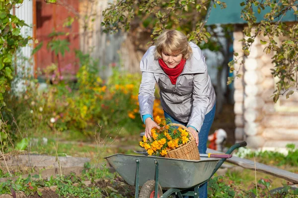
<path fill-rule="evenodd" d="M 184 69 L 182 74 L 195 74 L 195 73 L 205 73 L 207 70 L 207 65 L 205 61 L 205 56 L 202 53 L 202 50 L 192 42 L 189 42 L 193 50 L 192 56 L 186 60 Z M 158 64 L 158 60 L 154 59 L 154 50 L 155 46 L 151 46 L 145 55 L 143 56 L 140 69 L 142 72 L 152 72 L 152 73 L 162 73 L 165 74 L 164 71 Z"/>

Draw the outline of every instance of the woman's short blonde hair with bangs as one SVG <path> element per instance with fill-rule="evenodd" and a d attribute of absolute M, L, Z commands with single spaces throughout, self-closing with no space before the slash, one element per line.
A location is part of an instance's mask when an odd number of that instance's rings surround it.
<path fill-rule="evenodd" d="M 178 30 L 165 30 L 155 42 L 155 59 L 162 58 L 161 52 L 169 54 L 182 53 L 184 59 L 190 58 L 192 49 L 187 42 L 186 36 Z"/>

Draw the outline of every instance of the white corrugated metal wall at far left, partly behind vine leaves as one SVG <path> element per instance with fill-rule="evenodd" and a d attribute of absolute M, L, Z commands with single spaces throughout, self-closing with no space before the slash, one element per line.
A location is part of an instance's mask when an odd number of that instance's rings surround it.
<path fill-rule="evenodd" d="M 21 28 L 21 35 L 24 37 L 31 36 L 33 37 L 33 0 L 24 0 L 22 4 L 17 4 L 16 8 L 14 9 L 14 14 L 21 20 L 24 20 L 27 26 L 23 26 Z M 13 10 L 11 11 L 13 14 Z M 20 49 L 19 54 L 16 55 L 16 70 L 18 75 L 22 75 L 23 72 L 26 74 L 33 74 L 33 59 L 31 60 L 31 63 L 28 61 L 28 59 L 31 56 L 33 46 L 27 45 L 26 47 L 23 47 Z"/>

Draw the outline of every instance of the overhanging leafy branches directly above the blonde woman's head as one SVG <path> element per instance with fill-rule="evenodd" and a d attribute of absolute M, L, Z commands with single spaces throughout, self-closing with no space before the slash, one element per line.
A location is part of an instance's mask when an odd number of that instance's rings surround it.
<path fill-rule="evenodd" d="M 218 0 L 216 3 L 225 7 L 224 2 Z M 103 11 L 104 20 L 101 25 L 105 27 L 106 33 L 118 32 L 119 29 L 128 31 L 135 19 L 143 21 L 143 27 L 153 30 L 152 39 L 156 39 L 162 30 L 174 28 L 189 33 L 188 38 L 191 41 L 207 43 L 211 35 L 204 27 L 204 17 L 207 7 L 211 9 L 213 5 L 213 1 L 209 0 L 200 3 L 195 0 L 128 0 L 122 3 L 122 0 L 117 0 L 116 4 L 111 4 Z"/>

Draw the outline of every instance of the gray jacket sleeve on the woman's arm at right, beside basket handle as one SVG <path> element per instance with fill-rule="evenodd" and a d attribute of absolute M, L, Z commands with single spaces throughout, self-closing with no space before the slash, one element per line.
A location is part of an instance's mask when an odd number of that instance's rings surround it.
<path fill-rule="evenodd" d="M 212 91 L 212 83 L 207 70 L 205 73 L 194 75 L 193 89 L 193 108 L 187 125 L 191 125 L 200 132 L 203 125 L 205 114 L 210 103 L 210 93 Z"/>

